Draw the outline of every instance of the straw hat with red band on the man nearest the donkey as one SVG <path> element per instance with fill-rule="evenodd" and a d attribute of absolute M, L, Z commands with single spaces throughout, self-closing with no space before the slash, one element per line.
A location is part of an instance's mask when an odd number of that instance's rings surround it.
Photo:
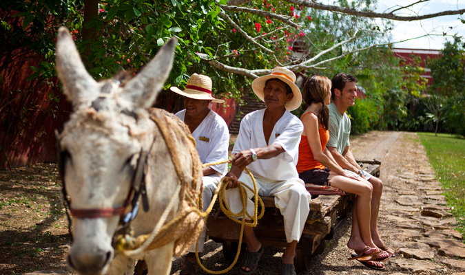
<path fill-rule="evenodd" d="M 216 103 L 225 102 L 225 100 L 216 99 L 211 96 L 211 78 L 203 74 L 193 74 L 187 80 L 187 86 L 184 91 L 181 91 L 178 87 L 170 87 L 169 89 L 187 98 L 211 100 Z"/>

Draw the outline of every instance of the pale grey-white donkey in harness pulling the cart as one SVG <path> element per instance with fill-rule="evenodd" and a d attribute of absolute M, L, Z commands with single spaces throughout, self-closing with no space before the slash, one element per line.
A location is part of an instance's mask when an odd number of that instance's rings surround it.
<path fill-rule="evenodd" d="M 73 106 L 59 135 L 63 187 L 68 193 L 65 199 L 69 198 L 72 214 L 73 210 L 76 213 L 67 260 L 78 274 L 133 274 L 136 259 L 115 252 L 112 239 L 121 217 L 131 210 L 124 206 L 141 152 L 148 152 L 145 184 L 149 203 L 147 212 L 138 211 L 132 221 L 134 236 L 152 232 L 176 196 L 180 179 L 161 131 L 147 111 L 172 69 L 175 46 L 176 39 L 168 41 L 130 80 L 114 77 L 96 82 L 85 70 L 68 30 L 59 29 L 56 70 Z M 196 167 L 185 142 L 176 136 L 172 139 L 183 161 L 183 177 L 196 181 L 200 192 L 201 173 L 197 178 L 192 174 L 193 169 L 201 170 L 200 164 Z M 181 199 L 176 197 L 167 221 L 175 216 Z M 172 241 L 143 252 L 138 259 L 147 262 L 150 274 L 169 274 L 174 245 Z"/>

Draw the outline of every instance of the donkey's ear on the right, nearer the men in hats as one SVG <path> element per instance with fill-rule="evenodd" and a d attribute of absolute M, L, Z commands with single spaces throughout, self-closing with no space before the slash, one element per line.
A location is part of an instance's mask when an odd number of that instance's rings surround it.
<path fill-rule="evenodd" d="M 130 100 L 135 108 L 152 107 L 158 93 L 173 67 L 174 48 L 178 39 L 169 39 L 142 71 L 126 85 L 123 98 Z"/>

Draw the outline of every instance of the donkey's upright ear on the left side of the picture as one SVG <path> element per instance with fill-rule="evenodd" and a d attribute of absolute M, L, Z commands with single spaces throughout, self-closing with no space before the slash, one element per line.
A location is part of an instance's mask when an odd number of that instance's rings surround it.
<path fill-rule="evenodd" d="M 85 70 L 70 32 L 65 27 L 58 30 L 56 72 L 65 95 L 75 109 L 83 103 L 90 104 L 99 95 L 98 85 Z"/>

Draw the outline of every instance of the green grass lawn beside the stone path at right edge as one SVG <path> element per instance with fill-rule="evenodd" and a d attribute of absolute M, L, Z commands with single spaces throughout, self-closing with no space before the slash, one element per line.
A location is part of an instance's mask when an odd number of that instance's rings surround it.
<path fill-rule="evenodd" d="M 449 134 L 417 133 L 442 184 L 448 206 L 465 232 L 465 139 Z"/>

